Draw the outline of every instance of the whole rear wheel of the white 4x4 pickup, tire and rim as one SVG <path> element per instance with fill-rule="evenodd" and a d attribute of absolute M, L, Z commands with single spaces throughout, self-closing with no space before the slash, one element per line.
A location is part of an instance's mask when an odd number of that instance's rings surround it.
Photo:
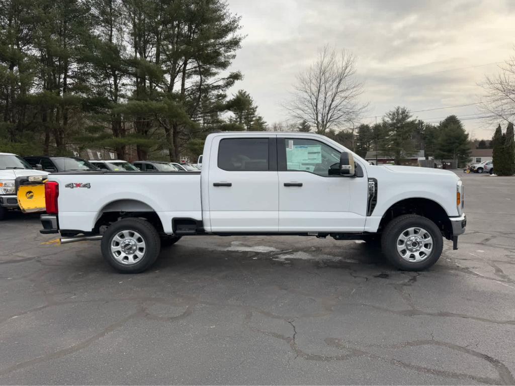
<path fill-rule="evenodd" d="M 161 241 L 148 221 L 125 218 L 108 227 L 100 248 L 108 264 L 118 272 L 140 273 L 156 261 Z"/>

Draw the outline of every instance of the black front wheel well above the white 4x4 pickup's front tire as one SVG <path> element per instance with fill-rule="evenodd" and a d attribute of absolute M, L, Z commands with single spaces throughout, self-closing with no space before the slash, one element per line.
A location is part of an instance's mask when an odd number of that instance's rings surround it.
<path fill-rule="evenodd" d="M 383 215 L 377 232 L 382 232 L 392 219 L 407 214 L 419 215 L 430 219 L 440 228 L 445 238 L 448 240 L 452 239 L 452 224 L 447 212 L 440 204 L 426 198 L 409 198 L 390 206 Z"/>

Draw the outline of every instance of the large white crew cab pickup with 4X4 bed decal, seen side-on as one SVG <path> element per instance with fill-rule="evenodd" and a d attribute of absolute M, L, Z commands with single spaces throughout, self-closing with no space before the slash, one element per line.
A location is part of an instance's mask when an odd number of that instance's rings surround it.
<path fill-rule="evenodd" d="M 465 232 L 451 171 L 374 166 L 313 133 L 208 135 L 198 172 L 62 172 L 45 184 L 42 233 L 100 240 L 121 272 L 142 272 L 182 236 L 298 235 L 381 243 L 404 270 L 435 264 Z"/>

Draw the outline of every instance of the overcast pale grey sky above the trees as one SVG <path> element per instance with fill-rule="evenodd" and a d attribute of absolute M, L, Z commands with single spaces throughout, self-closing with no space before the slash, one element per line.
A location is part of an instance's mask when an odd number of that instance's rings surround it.
<path fill-rule="evenodd" d="M 485 74 L 515 55 L 515 0 L 229 0 L 247 34 L 232 69 L 271 124 L 286 118 L 295 75 L 325 44 L 356 56 L 365 82 L 364 122 L 394 106 L 411 111 L 476 103 Z M 449 114 L 464 119 L 474 137 L 489 138 L 492 125 L 470 119 L 477 105 L 416 112 L 438 122 Z M 371 117 L 371 118 L 369 118 Z"/>

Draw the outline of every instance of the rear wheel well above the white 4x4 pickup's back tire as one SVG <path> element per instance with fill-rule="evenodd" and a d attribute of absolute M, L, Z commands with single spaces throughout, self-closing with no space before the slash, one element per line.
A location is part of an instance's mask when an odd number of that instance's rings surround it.
<path fill-rule="evenodd" d="M 93 233 L 104 233 L 113 222 L 124 218 L 142 218 L 150 222 L 158 231 L 163 233 L 163 224 L 158 214 L 149 205 L 138 200 L 118 200 L 104 206 L 95 222 Z"/>

